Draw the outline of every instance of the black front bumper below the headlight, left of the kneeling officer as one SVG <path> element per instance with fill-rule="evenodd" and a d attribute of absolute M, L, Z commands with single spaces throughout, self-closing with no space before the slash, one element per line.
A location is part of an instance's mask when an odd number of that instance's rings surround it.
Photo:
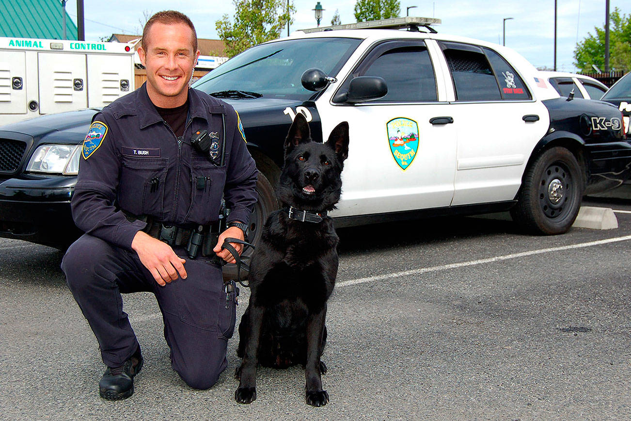
<path fill-rule="evenodd" d="M 0 182 L 0 237 L 65 249 L 81 235 L 70 199 L 76 177 Z"/>

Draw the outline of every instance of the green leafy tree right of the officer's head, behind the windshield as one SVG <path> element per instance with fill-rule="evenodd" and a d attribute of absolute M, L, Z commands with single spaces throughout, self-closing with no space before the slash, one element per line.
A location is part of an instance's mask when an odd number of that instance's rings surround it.
<path fill-rule="evenodd" d="M 215 22 L 217 33 L 226 44 L 226 54 L 233 57 L 250 47 L 280 37 L 296 9 L 287 8 L 285 0 L 232 0 L 234 21 L 228 15 Z"/>

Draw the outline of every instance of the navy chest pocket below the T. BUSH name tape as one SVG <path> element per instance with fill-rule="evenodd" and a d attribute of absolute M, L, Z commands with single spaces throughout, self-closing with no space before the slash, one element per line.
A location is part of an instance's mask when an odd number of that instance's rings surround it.
<path fill-rule="evenodd" d="M 118 203 L 134 215 L 163 218 L 167 158 L 123 157 Z"/>

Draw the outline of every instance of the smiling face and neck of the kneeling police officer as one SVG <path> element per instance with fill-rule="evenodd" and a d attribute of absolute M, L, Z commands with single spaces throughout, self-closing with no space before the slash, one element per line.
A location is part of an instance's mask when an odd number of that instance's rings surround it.
<path fill-rule="evenodd" d="M 147 93 L 158 107 L 174 108 L 186 102 L 188 83 L 199 57 L 193 50 L 193 33 L 185 23 L 165 25 L 155 22 L 149 28 L 146 50 L 138 49 L 147 70 Z"/>

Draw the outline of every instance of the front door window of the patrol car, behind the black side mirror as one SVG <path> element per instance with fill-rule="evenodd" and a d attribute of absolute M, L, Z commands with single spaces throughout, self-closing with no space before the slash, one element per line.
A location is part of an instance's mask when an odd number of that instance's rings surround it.
<path fill-rule="evenodd" d="M 362 71 L 363 76 L 386 80 L 388 93 L 372 102 L 436 101 L 436 78 L 425 46 L 413 45 L 386 50 Z"/>

